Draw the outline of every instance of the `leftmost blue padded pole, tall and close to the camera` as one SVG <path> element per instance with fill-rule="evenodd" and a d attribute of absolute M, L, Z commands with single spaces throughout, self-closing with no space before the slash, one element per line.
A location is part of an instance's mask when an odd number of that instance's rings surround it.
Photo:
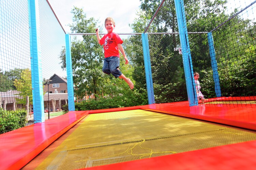
<path fill-rule="evenodd" d="M 38 0 L 28 0 L 28 11 L 34 123 L 39 123 L 45 119 Z"/>

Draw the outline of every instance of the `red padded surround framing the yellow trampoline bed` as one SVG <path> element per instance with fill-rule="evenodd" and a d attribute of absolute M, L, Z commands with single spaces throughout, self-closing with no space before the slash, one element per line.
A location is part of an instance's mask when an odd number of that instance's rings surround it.
<path fill-rule="evenodd" d="M 241 107 L 242 106 L 242 107 Z M 88 114 L 143 109 L 256 131 L 255 105 L 165 103 L 76 111 L 0 135 L 0 168 L 20 169 Z M 255 169 L 256 140 L 86 169 Z"/>

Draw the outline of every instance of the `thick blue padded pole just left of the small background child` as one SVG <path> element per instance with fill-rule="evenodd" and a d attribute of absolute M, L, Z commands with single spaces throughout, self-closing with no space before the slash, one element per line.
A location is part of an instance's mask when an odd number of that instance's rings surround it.
<path fill-rule="evenodd" d="M 183 14 L 185 15 L 183 0 L 174 0 L 174 3 L 175 3 L 179 35 L 180 35 L 188 103 L 189 103 L 189 106 L 195 106 L 195 105 L 198 105 L 198 101 L 197 101 L 196 90 L 195 90 L 195 82 L 193 82 L 194 75 L 193 75 L 193 66 L 192 66 L 191 56 L 190 56 L 186 19 L 185 19 L 185 16 L 183 17 Z M 182 11 L 183 11 L 183 14 L 182 14 Z"/>

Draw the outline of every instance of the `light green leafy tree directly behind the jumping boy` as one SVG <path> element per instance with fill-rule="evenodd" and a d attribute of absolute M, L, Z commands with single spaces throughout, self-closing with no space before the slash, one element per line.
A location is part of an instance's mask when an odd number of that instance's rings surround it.
<path fill-rule="evenodd" d="M 73 23 L 69 24 L 69 26 L 71 27 L 72 33 L 95 33 L 95 28 L 102 30 L 102 27 L 98 26 L 98 22 L 94 18 L 86 18 L 83 9 L 74 7 L 71 13 L 73 14 Z M 125 51 L 127 50 L 127 57 L 129 58 L 133 55 L 132 52 L 129 52 L 131 51 L 129 50 L 129 42 L 126 39 L 123 41 L 123 47 Z M 98 44 L 96 35 L 72 37 L 71 56 L 73 82 L 75 84 L 74 91 L 76 97 L 80 99 L 91 94 L 94 94 L 96 100 L 117 96 L 126 98 L 130 95 L 126 93 L 130 89 L 124 80 L 115 79 L 113 75 L 107 75 L 102 72 L 104 59 L 102 49 Z M 65 49 L 62 50 L 60 59 L 62 69 L 65 69 Z M 120 54 L 120 70 L 126 77 L 132 77 L 132 62 L 130 65 L 125 65 L 122 54 Z"/>

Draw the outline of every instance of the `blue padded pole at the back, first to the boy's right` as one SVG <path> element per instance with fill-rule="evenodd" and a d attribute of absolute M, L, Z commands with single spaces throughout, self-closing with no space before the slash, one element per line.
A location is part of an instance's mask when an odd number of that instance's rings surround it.
<path fill-rule="evenodd" d="M 143 48 L 143 56 L 144 56 L 144 66 L 145 66 L 145 76 L 146 76 L 146 86 L 147 86 L 147 99 L 148 99 L 148 104 L 154 104 L 155 96 L 154 96 L 154 87 L 153 87 L 153 80 L 152 80 L 150 51 L 149 51 L 149 46 L 148 46 L 147 33 L 142 33 L 141 39 L 142 39 L 142 48 Z"/>

